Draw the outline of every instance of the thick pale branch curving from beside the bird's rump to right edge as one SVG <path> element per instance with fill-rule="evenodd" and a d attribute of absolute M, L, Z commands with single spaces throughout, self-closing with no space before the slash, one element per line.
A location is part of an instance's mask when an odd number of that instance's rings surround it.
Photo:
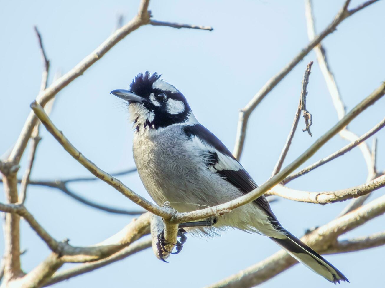
<path fill-rule="evenodd" d="M 328 204 L 340 202 L 347 199 L 357 198 L 362 195 L 367 195 L 372 191 L 380 189 L 385 186 L 385 175 L 382 175 L 370 182 L 355 186 L 349 189 L 325 191 L 325 192 L 308 192 L 287 188 L 282 185 L 276 185 L 273 190 L 266 194 L 276 195 L 286 199 L 314 203 L 314 204 Z"/>

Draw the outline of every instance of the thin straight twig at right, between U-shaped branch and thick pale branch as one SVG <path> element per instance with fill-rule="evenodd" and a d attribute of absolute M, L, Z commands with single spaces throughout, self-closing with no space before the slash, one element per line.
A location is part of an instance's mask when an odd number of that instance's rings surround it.
<path fill-rule="evenodd" d="M 346 145 L 345 147 L 341 148 L 340 150 L 334 152 L 333 154 L 330 154 L 328 157 L 325 157 L 325 158 L 323 158 L 321 160 L 318 160 L 317 162 L 315 162 L 315 163 L 305 167 L 304 169 L 300 170 L 299 172 L 296 172 L 295 174 L 286 177 L 282 181 L 282 184 L 287 184 L 291 180 L 296 179 L 296 178 L 298 178 L 298 177 L 300 177 L 300 176 L 310 172 L 311 170 L 314 170 L 317 167 L 320 167 L 323 164 L 326 164 L 326 163 L 330 162 L 331 160 L 336 159 L 337 157 L 342 156 L 346 152 L 352 150 L 354 147 L 357 147 L 363 141 L 365 141 L 366 139 L 368 139 L 369 137 L 371 137 L 372 135 L 374 135 L 375 133 L 380 131 L 380 129 L 382 129 L 384 126 L 385 126 L 385 118 L 382 119 L 381 122 L 379 122 L 376 126 L 374 126 L 372 129 L 370 129 L 368 132 L 363 134 L 361 137 L 359 137 L 355 141 L 351 142 L 350 144 Z"/>

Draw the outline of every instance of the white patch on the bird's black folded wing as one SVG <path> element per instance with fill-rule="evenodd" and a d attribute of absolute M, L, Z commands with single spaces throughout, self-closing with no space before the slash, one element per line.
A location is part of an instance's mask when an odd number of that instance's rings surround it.
<path fill-rule="evenodd" d="M 217 149 L 215 149 L 213 146 L 208 145 L 199 139 L 199 137 L 194 136 L 192 137 L 192 144 L 194 147 L 197 147 L 201 149 L 202 151 L 208 151 L 211 153 L 216 153 L 218 157 L 218 163 L 215 164 L 214 166 L 210 166 L 209 169 L 211 172 L 217 172 L 221 170 L 234 170 L 238 171 L 243 169 L 242 165 L 239 164 L 238 161 L 234 160 L 228 155 L 225 155 L 221 152 L 219 152 Z"/>

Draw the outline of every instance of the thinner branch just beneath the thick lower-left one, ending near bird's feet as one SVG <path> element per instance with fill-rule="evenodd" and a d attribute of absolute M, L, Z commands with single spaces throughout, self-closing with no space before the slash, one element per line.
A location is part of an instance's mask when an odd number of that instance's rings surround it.
<path fill-rule="evenodd" d="M 120 250 L 119 252 L 112 254 L 110 257 L 104 258 L 99 261 L 85 263 L 79 266 L 76 266 L 74 268 L 70 268 L 68 270 L 64 270 L 62 272 L 55 273 L 52 278 L 45 283 L 44 287 L 53 285 L 55 283 L 58 283 L 60 281 L 67 280 L 69 278 L 82 275 L 84 273 L 93 271 L 95 269 L 104 267 L 106 265 L 109 265 L 110 263 L 114 263 L 116 261 L 122 260 L 126 257 L 129 257 L 137 252 L 140 252 L 144 249 L 147 249 L 151 247 L 151 240 L 144 240 L 142 242 L 134 242 L 130 246 Z"/>

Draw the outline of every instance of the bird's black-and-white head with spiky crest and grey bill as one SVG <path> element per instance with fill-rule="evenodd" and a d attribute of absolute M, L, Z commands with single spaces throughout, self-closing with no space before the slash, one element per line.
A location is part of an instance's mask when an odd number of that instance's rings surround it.
<path fill-rule="evenodd" d="M 162 80 L 157 73 L 139 73 L 132 80 L 130 90 L 114 90 L 112 94 L 129 103 L 137 131 L 158 129 L 189 121 L 191 109 L 186 98 L 174 86 Z"/>

